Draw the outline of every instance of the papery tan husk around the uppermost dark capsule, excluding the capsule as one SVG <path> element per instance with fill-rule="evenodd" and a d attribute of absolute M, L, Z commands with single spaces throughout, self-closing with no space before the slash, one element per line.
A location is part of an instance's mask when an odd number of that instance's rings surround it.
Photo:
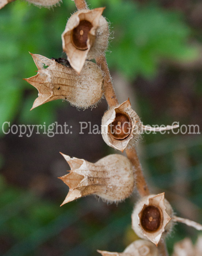
<path fill-rule="evenodd" d="M 62 48 L 67 55 L 68 61 L 78 73 L 86 59 L 95 59 L 103 54 L 108 45 L 108 23 L 102 16 L 104 7 L 93 10 L 80 10 L 73 14 L 62 33 Z M 80 50 L 72 43 L 72 31 L 79 25 L 81 20 L 87 20 L 92 24 L 88 33 L 87 49 Z"/>

